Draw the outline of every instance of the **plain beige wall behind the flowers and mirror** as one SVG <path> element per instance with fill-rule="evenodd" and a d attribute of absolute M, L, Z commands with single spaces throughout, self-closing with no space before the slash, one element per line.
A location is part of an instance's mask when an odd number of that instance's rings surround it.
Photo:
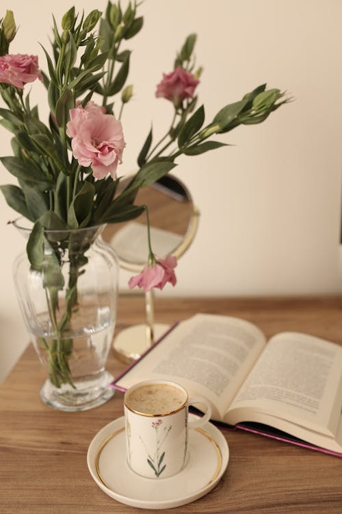
<path fill-rule="evenodd" d="M 106 5 L 73 4 L 86 12 Z M 45 1 L 32 9 L 31 2 L 8 1 L 20 25 L 12 53 L 38 53 L 45 67 L 38 41 L 49 45 L 51 11 L 60 19 L 70 5 Z M 155 99 L 155 86 L 190 32 L 199 36 L 198 93 L 208 120 L 263 82 L 295 97 L 262 125 L 220 138 L 233 146 L 179 160 L 176 174 L 194 195 L 200 228 L 179 262 L 179 283 L 162 294 L 340 293 L 342 2 L 145 0 L 140 10 L 144 30 L 129 42 L 135 97 L 123 119 L 122 173 L 134 169 L 151 121 L 155 132 L 166 128 L 170 106 Z M 44 116 L 42 93 L 35 83 L 32 97 Z M 0 155 L 8 154 L 10 135 L 1 130 Z M 1 171 L 1 184 L 10 182 Z M 24 242 L 6 225 L 15 216 L 0 198 L 0 380 L 27 341 L 11 277 Z M 123 274 L 122 287 L 126 282 Z"/>

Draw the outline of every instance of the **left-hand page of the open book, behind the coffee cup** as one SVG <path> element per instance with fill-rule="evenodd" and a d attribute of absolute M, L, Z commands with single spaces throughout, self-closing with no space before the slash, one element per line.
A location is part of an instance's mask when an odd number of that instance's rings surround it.
<path fill-rule="evenodd" d="M 222 419 L 264 346 L 265 336 L 248 321 L 196 315 L 179 323 L 117 384 L 173 380 L 190 395 L 205 396 L 213 406 L 213 419 Z"/>

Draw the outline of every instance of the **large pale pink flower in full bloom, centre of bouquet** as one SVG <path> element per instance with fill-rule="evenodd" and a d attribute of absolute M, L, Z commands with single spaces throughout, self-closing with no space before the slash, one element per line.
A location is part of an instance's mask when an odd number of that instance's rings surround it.
<path fill-rule="evenodd" d="M 81 166 L 91 166 L 95 178 L 103 179 L 107 173 L 116 178 L 126 145 L 120 121 L 90 101 L 85 108 L 70 109 L 66 134 L 72 138 L 73 155 Z"/>

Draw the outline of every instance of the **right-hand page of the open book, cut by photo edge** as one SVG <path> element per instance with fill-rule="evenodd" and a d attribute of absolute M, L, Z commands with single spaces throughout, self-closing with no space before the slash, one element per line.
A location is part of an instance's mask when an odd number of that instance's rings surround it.
<path fill-rule="evenodd" d="M 265 422 L 255 413 L 272 415 L 334 437 L 341 407 L 342 347 L 288 332 L 269 341 L 235 397 L 227 420 L 236 423 L 243 415 L 239 421 Z"/>

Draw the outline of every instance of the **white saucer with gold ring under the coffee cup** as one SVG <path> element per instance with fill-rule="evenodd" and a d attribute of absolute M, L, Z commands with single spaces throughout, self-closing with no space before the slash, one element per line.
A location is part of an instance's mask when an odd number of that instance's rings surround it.
<path fill-rule="evenodd" d="M 189 414 L 189 419 L 196 417 Z M 101 428 L 88 448 L 87 463 L 100 489 L 118 502 L 142 509 L 168 509 L 193 502 L 218 483 L 228 465 L 228 444 L 211 423 L 189 430 L 183 470 L 168 478 L 143 478 L 129 468 L 124 417 Z"/>

